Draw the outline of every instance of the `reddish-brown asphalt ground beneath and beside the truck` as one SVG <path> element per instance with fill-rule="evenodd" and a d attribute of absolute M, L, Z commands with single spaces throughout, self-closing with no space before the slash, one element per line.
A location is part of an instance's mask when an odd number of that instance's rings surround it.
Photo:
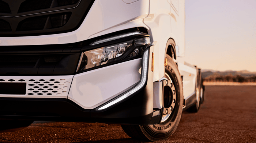
<path fill-rule="evenodd" d="M 120 125 L 34 122 L 16 132 L 0 133 L 3 143 L 140 143 Z M 157 143 L 256 143 L 256 86 L 206 86 L 197 113 L 183 112 L 176 132 Z"/>

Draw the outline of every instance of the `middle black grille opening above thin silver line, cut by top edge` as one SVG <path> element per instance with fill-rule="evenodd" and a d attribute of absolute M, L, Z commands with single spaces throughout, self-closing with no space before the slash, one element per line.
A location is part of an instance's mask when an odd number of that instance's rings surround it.
<path fill-rule="evenodd" d="M 52 0 L 26 0 L 20 5 L 18 13 L 50 8 L 51 4 Z"/>

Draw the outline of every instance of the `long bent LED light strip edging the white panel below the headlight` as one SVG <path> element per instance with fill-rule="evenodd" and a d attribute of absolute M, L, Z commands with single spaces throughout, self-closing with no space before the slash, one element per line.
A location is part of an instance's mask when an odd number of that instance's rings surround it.
<path fill-rule="evenodd" d="M 147 79 L 147 68 L 148 68 L 148 49 L 143 54 L 143 65 L 142 65 L 142 67 L 143 67 L 142 68 L 142 78 L 141 78 L 140 83 L 138 84 L 138 86 L 136 86 L 135 88 L 133 88 L 131 91 L 127 92 L 126 94 L 122 95 L 121 97 L 117 98 L 116 100 L 113 100 L 112 102 L 98 108 L 98 110 L 108 108 L 109 106 L 112 106 L 113 104 L 116 104 L 117 102 L 120 102 L 121 100 L 123 100 L 123 99 L 127 98 L 128 96 L 132 95 L 134 92 L 138 91 L 140 88 L 142 88 L 145 85 L 146 79 Z"/>

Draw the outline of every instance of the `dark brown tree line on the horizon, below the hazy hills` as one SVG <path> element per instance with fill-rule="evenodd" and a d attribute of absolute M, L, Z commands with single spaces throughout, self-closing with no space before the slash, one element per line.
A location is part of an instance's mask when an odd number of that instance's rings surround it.
<path fill-rule="evenodd" d="M 219 75 L 214 74 L 203 79 L 204 82 L 256 82 L 256 75 L 251 77 L 245 77 L 241 75 Z"/>

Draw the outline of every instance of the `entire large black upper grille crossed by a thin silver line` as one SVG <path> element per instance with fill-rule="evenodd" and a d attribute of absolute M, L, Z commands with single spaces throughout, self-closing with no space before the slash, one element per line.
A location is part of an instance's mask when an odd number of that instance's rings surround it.
<path fill-rule="evenodd" d="M 82 24 L 93 2 L 94 0 L 0 0 L 0 37 L 74 31 Z"/>

